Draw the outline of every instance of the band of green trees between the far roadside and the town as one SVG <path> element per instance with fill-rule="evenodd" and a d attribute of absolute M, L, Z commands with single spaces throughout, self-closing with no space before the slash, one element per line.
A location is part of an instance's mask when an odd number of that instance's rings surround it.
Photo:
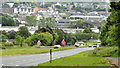
<path fill-rule="evenodd" d="M 19 28 L 19 31 L 2 31 L 2 42 L 6 42 L 6 39 L 16 39 L 13 42 L 15 45 L 20 45 L 22 47 L 25 43 L 28 46 L 36 45 L 37 41 L 41 41 L 42 46 L 52 46 L 53 41 L 56 44 L 61 45 L 61 41 L 65 39 L 66 45 L 74 45 L 76 41 L 89 40 L 91 37 L 93 39 L 98 39 L 98 35 L 93 32 L 89 32 L 90 29 L 87 28 L 83 32 L 77 32 L 75 34 L 65 33 L 62 29 L 51 29 L 49 26 L 39 27 L 34 34 L 30 34 L 27 27 L 22 26 Z M 11 44 L 10 44 L 11 46 Z"/>

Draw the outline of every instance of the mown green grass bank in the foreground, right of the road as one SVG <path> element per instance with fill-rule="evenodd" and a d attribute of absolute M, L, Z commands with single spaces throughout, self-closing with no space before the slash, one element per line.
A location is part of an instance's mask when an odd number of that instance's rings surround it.
<path fill-rule="evenodd" d="M 81 52 L 68 57 L 62 57 L 38 66 L 110 66 L 104 57 L 95 57 L 92 50 Z M 31 68 L 35 68 L 34 66 Z"/>

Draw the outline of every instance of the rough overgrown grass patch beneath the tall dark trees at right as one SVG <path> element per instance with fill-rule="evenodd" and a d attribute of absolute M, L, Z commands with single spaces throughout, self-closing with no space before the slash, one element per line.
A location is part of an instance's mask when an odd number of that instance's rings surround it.
<path fill-rule="evenodd" d="M 97 56 L 101 57 L 120 57 L 118 47 L 99 47 L 96 49 Z"/>

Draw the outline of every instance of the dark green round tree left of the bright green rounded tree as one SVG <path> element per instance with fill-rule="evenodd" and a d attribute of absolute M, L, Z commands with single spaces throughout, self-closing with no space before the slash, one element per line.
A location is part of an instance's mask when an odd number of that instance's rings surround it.
<path fill-rule="evenodd" d="M 28 31 L 28 28 L 26 26 L 20 27 L 19 31 L 18 31 L 18 34 L 21 37 L 24 37 L 24 38 L 27 38 L 27 37 L 29 37 L 31 35 L 30 32 Z"/>

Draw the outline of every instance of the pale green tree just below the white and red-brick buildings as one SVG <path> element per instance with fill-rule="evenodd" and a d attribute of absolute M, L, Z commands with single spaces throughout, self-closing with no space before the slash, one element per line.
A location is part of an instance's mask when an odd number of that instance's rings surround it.
<path fill-rule="evenodd" d="M 29 26 L 36 26 L 37 24 L 37 17 L 35 15 L 26 16 L 25 20 Z"/>

